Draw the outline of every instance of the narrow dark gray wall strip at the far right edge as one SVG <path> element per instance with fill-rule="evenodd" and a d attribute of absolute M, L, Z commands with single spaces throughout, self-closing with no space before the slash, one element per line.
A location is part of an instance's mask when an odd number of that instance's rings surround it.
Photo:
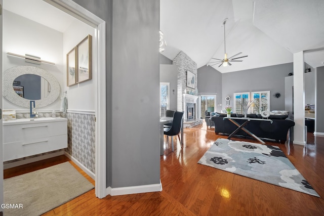
<path fill-rule="evenodd" d="M 324 67 L 318 67 L 315 71 L 315 132 L 324 134 Z"/>

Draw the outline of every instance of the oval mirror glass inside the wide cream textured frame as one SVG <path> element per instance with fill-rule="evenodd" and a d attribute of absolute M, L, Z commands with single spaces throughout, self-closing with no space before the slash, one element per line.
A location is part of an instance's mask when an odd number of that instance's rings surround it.
<path fill-rule="evenodd" d="M 18 96 L 35 101 L 45 99 L 51 92 L 51 85 L 42 76 L 24 74 L 15 78 L 13 89 Z"/>

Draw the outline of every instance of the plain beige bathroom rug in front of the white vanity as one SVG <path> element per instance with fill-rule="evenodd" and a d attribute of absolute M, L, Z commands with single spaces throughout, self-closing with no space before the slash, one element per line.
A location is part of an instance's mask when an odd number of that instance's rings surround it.
<path fill-rule="evenodd" d="M 41 215 L 93 188 L 69 162 L 5 179 L 4 215 Z"/>

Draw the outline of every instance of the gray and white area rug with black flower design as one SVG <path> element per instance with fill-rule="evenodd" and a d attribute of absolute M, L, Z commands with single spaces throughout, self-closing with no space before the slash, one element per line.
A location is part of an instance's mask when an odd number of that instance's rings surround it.
<path fill-rule="evenodd" d="M 198 163 L 319 197 L 277 146 L 220 138 Z"/>

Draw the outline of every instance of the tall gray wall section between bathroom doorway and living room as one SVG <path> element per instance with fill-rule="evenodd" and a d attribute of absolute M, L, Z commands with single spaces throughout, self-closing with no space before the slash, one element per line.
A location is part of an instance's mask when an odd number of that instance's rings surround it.
<path fill-rule="evenodd" d="M 159 1 L 73 1 L 106 21 L 107 187 L 159 184 Z"/>

